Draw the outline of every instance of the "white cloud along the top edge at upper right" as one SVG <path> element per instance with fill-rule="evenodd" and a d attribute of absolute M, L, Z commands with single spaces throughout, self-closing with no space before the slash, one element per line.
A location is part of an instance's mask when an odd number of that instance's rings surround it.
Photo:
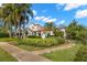
<path fill-rule="evenodd" d="M 72 9 L 77 9 L 80 6 L 87 6 L 87 3 L 67 3 L 64 8 L 64 10 L 72 10 Z"/>

